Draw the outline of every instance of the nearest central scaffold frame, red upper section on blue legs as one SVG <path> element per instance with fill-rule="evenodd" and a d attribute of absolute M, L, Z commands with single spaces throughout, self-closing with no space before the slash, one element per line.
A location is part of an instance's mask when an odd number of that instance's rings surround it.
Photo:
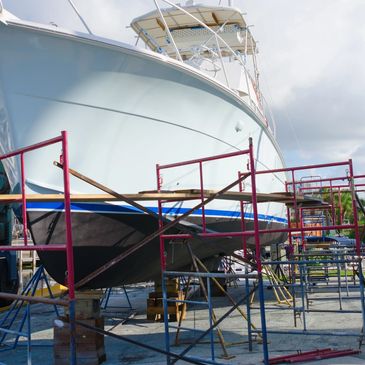
<path fill-rule="evenodd" d="M 254 229 L 252 231 L 245 230 L 245 220 L 244 220 L 244 214 L 243 212 L 243 206 L 241 204 L 240 211 L 241 216 L 239 219 L 241 220 L 241 228 L 242 231 L 239 232 L 207 232 L 207 225 L 206 225 L 206 217 L 205 217 L 205 209 L 204 206 L 209 203 L 211 200 L 206 199 L 204 195 L 204 179 L 203 179 L 203 163 L 215 161 L 215 160 L 221 160 L 221 159 L 227 159 L 231 157 L 236 156 L 245 156 L 248 158 L 248 164 L 247 164 L 247 172 L 242 173 L 238 171 L 238 179 L 234 181 L 232 184 L 228 185 L 226 188 L 223 188 L 220 192 L 217 194 L 227 191 L 228 189 L 231 189 L 234 186 L 238 185 L 238 188 L 240 192 L 242 192 L 242 181 L 248 177 L 251 178 L 251 204 L 252 204 L 252 210 L 254 215 Z M 167 165 L 156 165 L 156 178 L 157 178 L 157 191 L 161 192 L 162 188 L 162 177 L 161 177 L 161 171 L 166 169 L 172 169 L 176 167 L 181 166 L 187 166 L 187 165 L 198 165 L 199 166 L 199 185 L 200 185 L 200 200 L 201 200 L 201 217 L 202 217 L 202 232 L 198 234 L 187 234 L 187 233 L 177 233 L 177 234 L 160 234 L 160 262 L 161 262 L 161 272 L 162 272 L 162 281 L 164 282 L 165 278 L 169 276 L 171 273 L 169 273 L 166 270 L 166 257 L 165 257 L 165 240 L 166 239 L 191 239 L 193 237 L 198 236 L 201 239 L 207 239 L 207 238 L 223 238 L 223 237 L 241 237 L 242 243 L 243 243 L 243 249 L 247 251 L 247 245 L 246 245 L 246 237 L 247 236 L 253 236 L 255 240 L 255 251 L 256 251 L 256 264 L 257 264 L 257 281 L 258 281 L 258 291 L 259 291 L 259 297 L 260 297 L 260 317 L 261 317 L 261 331 L 257 331 L 261 333 L 262 338 L 262 345 L 263 345 L 263 352 L 264 352 L 264 361 L 265 363 L 268 363 L 269 357 L 268 357 L 268 341 L 267 341 L 267 331 L 266 331 L 266 319 L 265 319 L 265 301 L 264 301 L 264 284 L 263 284 L 263 277 L 262 277 L 262 263 L 261 263 L 261 257 L 260 257 L 260 229 L 259 229 L 259 222 L 258 222 L 258 201 L 257 201 L 257 189 L 256 189 L 256 169 L 255 169 L 255 159 L 254 159 L 254 149 L 253 149 L 253 141 L 252 138 L 249 139 L 249 148 L 246 150 L 241 150 L 233 153 L 227 153 L 227 154 L 220 154 L 195 160 L 188 160 L 188 161 L 182 161 L 182 162 L 176 162 L 172 164 Z M 238 199 L 240 200 L 240 199 Z M 159 213 L 159 228 L 160 230 L 164 228 L 164 220 L 163 220 L 163 205 L 164 201 L 159 199 L 158 200 L 158 213 Z M 245 257 L 246 258 L 246 257 Z M 173 275 L 173 274 L 172 274 Z M 190 276 L 194 276 L 195 274 L 190 273 Z M 206 274 L 208 277 L 208 281 L 216 276 L 216 274 Z M 241 275 L 240 277 L 246 278 L 248 280 L 249 275 Z M 163 288 L 165 287 L 165 284 L 163 284 Z M 248 292 L 249 293 L 249 292 Z M 248 299 L 249 296 L 246 296 L 245 298 Z M 247 302 L 248 300 L 246 300 Z M 169 336 L 169 322 L 168 322 L 168 315 L 167 315 L 167 308 L 168 308 L 168 299 L 167 299 L 167 293 L 166 293 L 166 287 L 165 290 L 163 290 L 163 306 L 164 306 L 164 323 L 165 323 L 165 346 L 166 351 L 169 352 L 170 349 L 170 336 Z M 208 295 L 208 306 L 209 311 L 211 311 L 211 301 L 209 299 Z M 235 306 L 234 306 L 235 307 Z M 233 307 L 233 308 L 234 308 Z M 225 316 L 224 316 L 225 318 Z M 251 329 L 251 319 L 250 315 L 248 315 L 248 337 L 249 337 L 249 348 L 252 348 L 252 333 L 254 332 Z M 219 322 L 218 320 L 217 322 Z M 211 323 L 211 322 L 210 322 Z M 214 325 L 211 325 L 210 328 L 206 331 L 206 334 L 210 334 L 212 336 L 212 331 L 214 329 Z M 181 355 L 185 355 L 185 351 L 181 353 Z M 167 364 L 170 365 L 171 361 L 169 356 L 166 358 Z M 200 359 L 201 360 L 201 359 Z M 217 364 L 215 362 L 215 354 L 214 354 L 214 344 L 211 346 L 211 360 L 204 360 L 205 363 L 210 364 Z M 172 362 L 174 363 L 174 362 Z"/>

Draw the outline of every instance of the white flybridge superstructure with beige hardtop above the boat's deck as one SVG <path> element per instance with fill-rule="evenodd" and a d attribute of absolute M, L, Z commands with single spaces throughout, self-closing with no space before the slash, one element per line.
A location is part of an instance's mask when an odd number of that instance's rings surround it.
<path fill-rule="evenodd" d="M 131 23 L 138 40 L 154 52 L 184 62 L 225 85 L 269 126 L 260 91 L 257 46 L 242 12 L 231 6 L 169 5 Z M 272 121 L 272 132 L 275 125 Z"/>

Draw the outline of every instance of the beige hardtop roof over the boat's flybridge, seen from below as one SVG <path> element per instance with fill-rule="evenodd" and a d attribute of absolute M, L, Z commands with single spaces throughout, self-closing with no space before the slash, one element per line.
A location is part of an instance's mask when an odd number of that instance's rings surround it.
<path fill-rule="evenodd" d="M 173 44 L 166 36 L 166 26 L 180 54 L 185 58 L 194 55 L 194 47 L 207 49 L 215 46 L 217 39 L 208 28 L 219 34 L 224 41 L 218 41 L 223 55 L 230 54 L 227 45 L 233 51 L 246 55 L 256 52 L 256 42 L 239 9 L 197 5 L 160 10 L 161 13 L 155 10 L 131 23 L 137 35 L 155 52 L 175 56 Z M 206 53 L 209 57 L 209 52 Z"/>

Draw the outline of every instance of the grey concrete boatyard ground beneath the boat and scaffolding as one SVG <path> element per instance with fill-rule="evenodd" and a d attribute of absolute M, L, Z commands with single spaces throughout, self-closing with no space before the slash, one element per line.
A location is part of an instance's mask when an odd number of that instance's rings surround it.
<path fill-rule="evenodd" d="M 151 322 L 146 319 L 146 298 L 148 292 L 152 291 L 149 286 L 130 287 L 128 289 L 129 297 L 132 306 L 136 310 L 136 314 L 127 322 L 122 324 L 123 316 L 126 315 L 126 310 L 123 308 L 108 308 L 106 310 L 106 329 L 112 330 L 113 333 L 131 338 L 150 346 L 164 349 L 164 324 L 161 322 Z M 231 295 L 236 300 L 242 297 L 244 288 L 231 287 L 229 288 Z M 343 310 L 360 310 L 360 300 L 345 299 L 350 296 L 357 295 L 355 292 L 342 293 Z M 278 305 L 273 296 L 273 291 L 265 289 L 266 296 L 266 319 L 269 330 L 292 330 L 293 329 L 293 311 L 284 310 L 286 305 Z M 328 298 L 336 298 L 338 293 L 313 293 L 311 294 L 311 309 L 339 309 L 338 300 L 330 300 Z M 122 294 L 113 295 L 111 305 L 125 306 L 127 303 Z M 297 303 L 298 306 L 301 303 Z M 255 300 L 252 310 L 252 322 L 258 328 L 260 325 L 260 313 L 258 302 Z M 215 298 L 214 308 L 217 317 L 222 316 L 230 305 L 226 298 Z M 241 307 L 246 311 L 245 306 Z M 4 315 L 4 314 L 2 314 Z M 32 364 L 50 365 L 53 364 L 53 321 L 55 313 L 49 306 L 33 305 L 32 306 Z M 303 328 L 303 319 L 297 320 L 298 329 Z M 171 323 L 172 325 L 176 323 Z M 343 334 L 345 332 L 353 332 L 360 334 L 362 328 L 361 313 L 306 313 L 307 328 L 316 330 L 317 332 L 337 332 Z M 197 335 L 199 329 L 206 329 L 208 325 L 208 312 L 202 306 L 190 306 L 187 312 L 187 318 L 183 321 L 184 330 L 180 334 L 180 344 L 174 344 L 175 335 L 174 329 L 171 329 L 171 351 L 180 353 L 183 351 L 192 339 Z M 234 311 L 220 325 L 224 341 L 227 345 L 227 352 L 231 359 L 222 358 L 223 350 L 215 336 L 215 353 L 216 361 L 221 364 L 260 364 L 263 360 L 262 345 L 259 341 L 253 343 L 253 349 L 248 350 L 247 343 L 247 322 L 242 318 L 238 311 Z M 206 338 L 208 340 L 208 338 Z M 205 341 L 207 342 L 207 341 Z M 105 340 L 107 361 L 105 365 L 120 365 L 120 364 L 166 364 L 166 358 L 162 354 L 145 350 L 119 341 L 110 337 Z M 298 351 L 312 351 L 331 347 L 334 349 L 358 349 L 359 337 L 343 337 L 343 336 L 328 336 L 326 334 L 310 335 L 284 335 L 284 334 L 269 334 L 269 351 L 270 358 L 293 354 Z M 201 344 L 195 347 L 190 355 L 208 358 L 210 355 L 210 345 L 208 343 Z M 179 364 L 186 362 L 179 361 Z M 0 352 L 0 365 L 23 365 L 27 364 L 26 347 L 24 339 L 21 340 L 20 346 L 15 350 Z M 335 359 L 322 361 L 306 362 L 306 364 L 365 364 L 365 354 L 347 356 Z"/>

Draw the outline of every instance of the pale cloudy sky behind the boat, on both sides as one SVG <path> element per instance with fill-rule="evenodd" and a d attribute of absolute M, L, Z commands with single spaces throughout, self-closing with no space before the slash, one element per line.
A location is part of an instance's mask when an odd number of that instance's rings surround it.
<path fill-rule="evenodd" d="M 154 7 L 152 0 L 73 1 L 94 33 L 127 42 L 134 41 L 126 28 L 129 22 Z M 67 0 L 3 3 L 19 17 L 83 30 Z M 254 25 L 261 85 L 287 164 L 353 158 L 356 172 L 365 173 L 365 2 L 235 0 L 234 4 Z"/>

